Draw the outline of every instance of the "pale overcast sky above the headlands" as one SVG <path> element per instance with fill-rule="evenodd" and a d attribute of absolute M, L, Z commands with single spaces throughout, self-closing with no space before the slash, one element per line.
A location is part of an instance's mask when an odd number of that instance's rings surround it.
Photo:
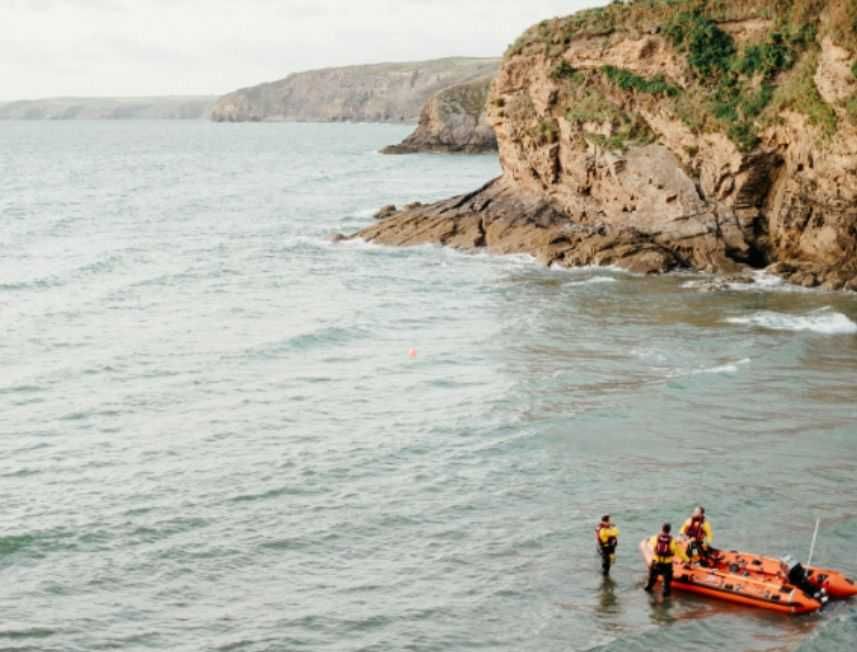
<path fill-rule="evenodd" d="M 0 0 L 0 100 L 220 95 L 313 68 L 500 56 L 604 0 Z"/>

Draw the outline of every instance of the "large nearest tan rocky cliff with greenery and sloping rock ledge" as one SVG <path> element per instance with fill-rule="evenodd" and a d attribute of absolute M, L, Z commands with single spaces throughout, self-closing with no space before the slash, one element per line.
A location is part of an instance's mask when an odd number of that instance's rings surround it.
<path fill-rule="evenodd" d="M 488 102 L 501 178 L 360 236 L 857 289 L 857 1 L 640 0 L 545 21 Z"/>

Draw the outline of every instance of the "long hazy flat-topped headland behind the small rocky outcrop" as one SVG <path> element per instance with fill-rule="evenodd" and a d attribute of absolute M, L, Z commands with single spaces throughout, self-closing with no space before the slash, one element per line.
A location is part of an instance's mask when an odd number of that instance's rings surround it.
<path fill-rule="evenodd" d="M 426 101 L 496 72 L 497 59 L 438 59 L 327 68 L 289 75 L 221 97 L 217 122 L 415 122 Z"/>

